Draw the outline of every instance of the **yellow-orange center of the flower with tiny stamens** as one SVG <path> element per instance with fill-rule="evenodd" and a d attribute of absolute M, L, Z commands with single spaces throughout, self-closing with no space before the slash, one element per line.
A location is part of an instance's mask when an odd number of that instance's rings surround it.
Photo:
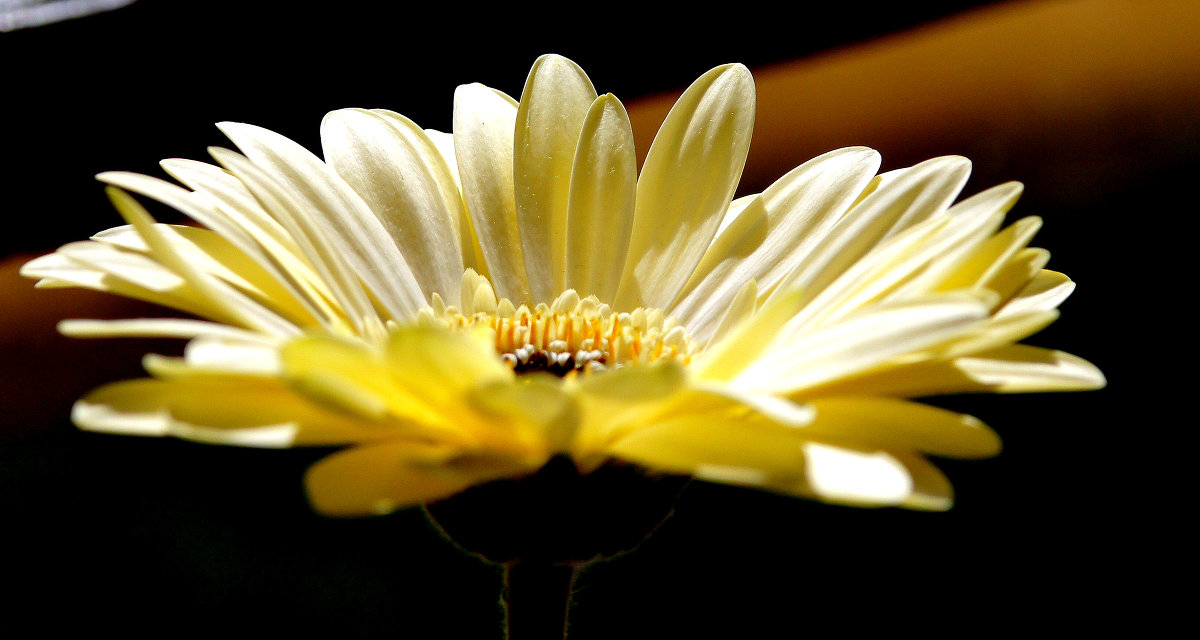
<path fill-rule="evenodd" d="M 496 299 L 487 279 L 463 274 L 462 309 L 433 294 L 419 322 L 446 329 L 490 329 L 496 352 L 517 373 L 593 373 L 660 359 L 688 364 L 695 349 L 688 330 L 659 309 L 616 312 L 595 295 L 566 289 L 551 304 L 515 306 Z"/>

